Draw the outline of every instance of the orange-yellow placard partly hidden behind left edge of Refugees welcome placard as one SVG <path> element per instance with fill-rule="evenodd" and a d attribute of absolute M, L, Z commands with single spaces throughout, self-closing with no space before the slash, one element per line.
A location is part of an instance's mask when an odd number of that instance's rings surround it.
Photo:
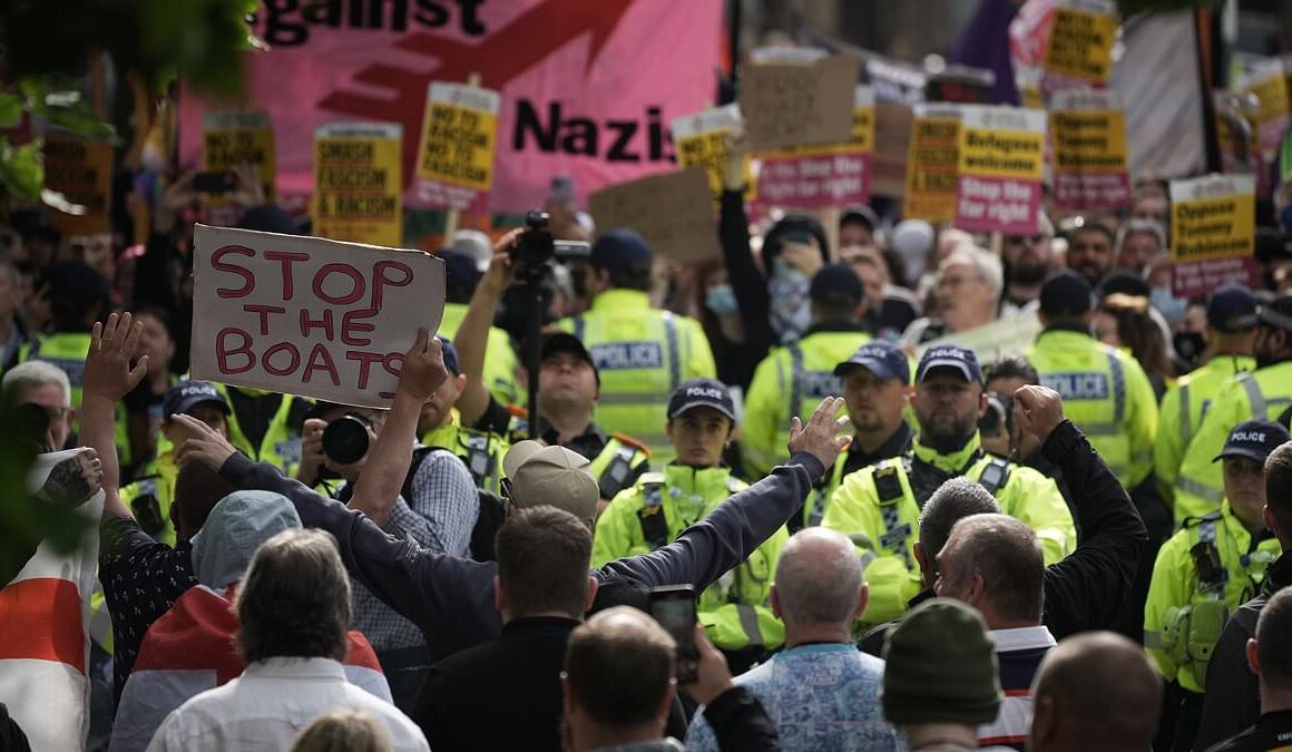
<path fill-rule="evenodd" d="M 955 220 L 959 174 L 960 109 L 916 105 L 902 216 L 929 222 Z"/>

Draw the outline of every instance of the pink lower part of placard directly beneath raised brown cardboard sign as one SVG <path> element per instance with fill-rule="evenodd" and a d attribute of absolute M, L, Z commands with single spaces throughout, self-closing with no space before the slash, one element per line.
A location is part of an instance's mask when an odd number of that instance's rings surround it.
<path fill-rule="evenodd" d="M 872 154 L 766 158 L 758 171 L 758 203 L 817 209 L 871 200 Z"/>

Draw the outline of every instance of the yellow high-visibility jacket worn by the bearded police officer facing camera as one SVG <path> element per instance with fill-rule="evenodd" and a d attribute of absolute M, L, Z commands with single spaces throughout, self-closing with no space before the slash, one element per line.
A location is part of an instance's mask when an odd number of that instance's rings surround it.
<path fill-rule="evenodd" d="M 920 510 L 947 478 L 982 483 L 1005 514 L 1036 532 L 1045 563 L 1056 563 L 1076 545 L 1076 526 L 1052 478 L 1009 460 L 986 455 L 978 434 L 959 452 L 942 455 L 916 441 L 899 459 L 884 460 L 844 478 L 822 519 L 823 527 L 849 536 L 866 566 L 871 587 L 862 625 L 891 621 L 921 589 L 915 561 Z"/>

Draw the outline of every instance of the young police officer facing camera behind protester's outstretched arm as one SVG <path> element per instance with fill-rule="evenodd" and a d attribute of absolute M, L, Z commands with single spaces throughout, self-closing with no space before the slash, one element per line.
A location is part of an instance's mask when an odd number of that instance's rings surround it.
<path fill-rule="evenodd" d="M 662 473 L 646 473 L 610 503 L 597 521 L 592 563 L 647 553 L 672 541 L 745 483 L 721 464 L 735 430 L 735 406 L 727 388 L 713 379 L 683 381 L 668 402 L 667 433 L 677 454 Z M 748 559 L 700 594 L 699 619 L 709 640 L 736 667 L 748 667 L 779 647 L 784 625 L 771 615 L 769 598 L 784 527 Z"/>

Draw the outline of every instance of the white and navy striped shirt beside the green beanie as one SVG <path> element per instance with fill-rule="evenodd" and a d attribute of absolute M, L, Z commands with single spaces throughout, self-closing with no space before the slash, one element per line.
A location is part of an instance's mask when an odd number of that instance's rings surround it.
<path fill-rule="evenodd" d="M 991 637 L 996 641 L 1005 702 L 1000 703 L 995 721 L 978 726 L 978 746 L 1000 744 L 1021 751 L 1032 725 L 1032 677 L 1041 659 L 1054 647 L 1054 636 L 1045 627 L 1023 627 L 992 629 Z"/>

